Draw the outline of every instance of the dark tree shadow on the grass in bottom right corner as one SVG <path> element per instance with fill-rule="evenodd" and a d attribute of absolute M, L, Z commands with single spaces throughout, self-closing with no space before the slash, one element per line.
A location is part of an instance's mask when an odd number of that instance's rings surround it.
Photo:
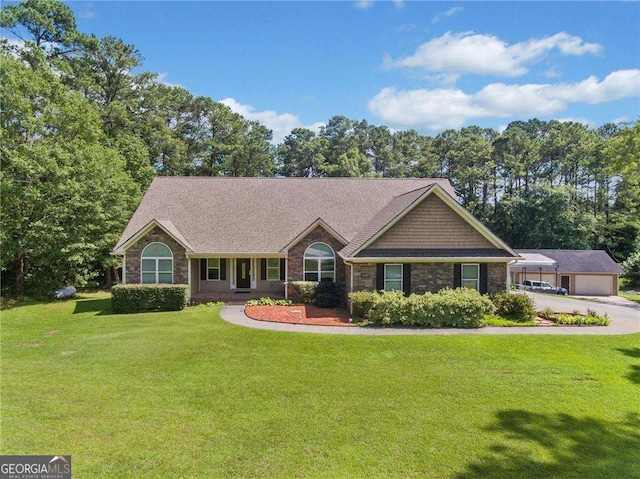
<path fill-rule="evenodd" d="M 570 414 L 504 410 L 486 428 L 497 441 L 458 479 L 639 477 L 640 415 L 608 421 Z M 540 449 L 547 459 L 540 459 Z"/>

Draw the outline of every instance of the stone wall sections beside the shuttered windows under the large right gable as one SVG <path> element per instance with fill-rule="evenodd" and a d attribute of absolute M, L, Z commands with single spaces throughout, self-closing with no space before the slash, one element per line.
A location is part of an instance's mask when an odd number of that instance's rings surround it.
<path fill-rule="evenodd" d="M 454 263 L 412 263 L 411 292 L 435 293 L 453 287 Z M 487 292 L 504 291 L 507 287 L 506 263 L 488 263 Z M 376 289 L 376 265 L 356 263 L 353 265 L 353 291 Z"/>

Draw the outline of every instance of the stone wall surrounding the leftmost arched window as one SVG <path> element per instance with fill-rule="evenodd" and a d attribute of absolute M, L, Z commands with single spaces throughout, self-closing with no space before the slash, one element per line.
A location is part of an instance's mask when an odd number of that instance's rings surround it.
<path fill-rule="evenodd" d="M 187 284 L 187 256 L 183 246 L 164 232 L 155 227 L 144 235 L 136 244 L 126 251 L 126 281 L 127 284 L 140 283 L 140 264 L 142 250 L 150 243 L 164 243 L 173 253 L 173 283 Z"/>

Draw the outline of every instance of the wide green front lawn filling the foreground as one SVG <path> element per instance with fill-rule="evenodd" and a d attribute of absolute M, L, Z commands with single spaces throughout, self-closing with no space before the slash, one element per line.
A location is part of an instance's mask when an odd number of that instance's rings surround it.
<path fill-rule="evenodd" d="M 105 294 L 1 326 L 0 454 L 76 478 L 640 478 L 639 334 L 287 334 Z"/>

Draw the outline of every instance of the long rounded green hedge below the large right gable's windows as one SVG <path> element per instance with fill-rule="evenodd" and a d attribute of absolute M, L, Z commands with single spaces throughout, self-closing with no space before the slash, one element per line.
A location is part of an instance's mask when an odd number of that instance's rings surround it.
<path fill-rule="evenodd" d="M 381 326 L 479 328 L 484 324 L 484 316 L 494 311 L 491 300 L 473 289 L 446 288 L 409 297 L 400 291 L 369 293 L 373 300 L 367 314 L 369 298 L 360 293 L 350 295 L 355 299 L 354 308 L 363 311 L 370 323 Z"/>

